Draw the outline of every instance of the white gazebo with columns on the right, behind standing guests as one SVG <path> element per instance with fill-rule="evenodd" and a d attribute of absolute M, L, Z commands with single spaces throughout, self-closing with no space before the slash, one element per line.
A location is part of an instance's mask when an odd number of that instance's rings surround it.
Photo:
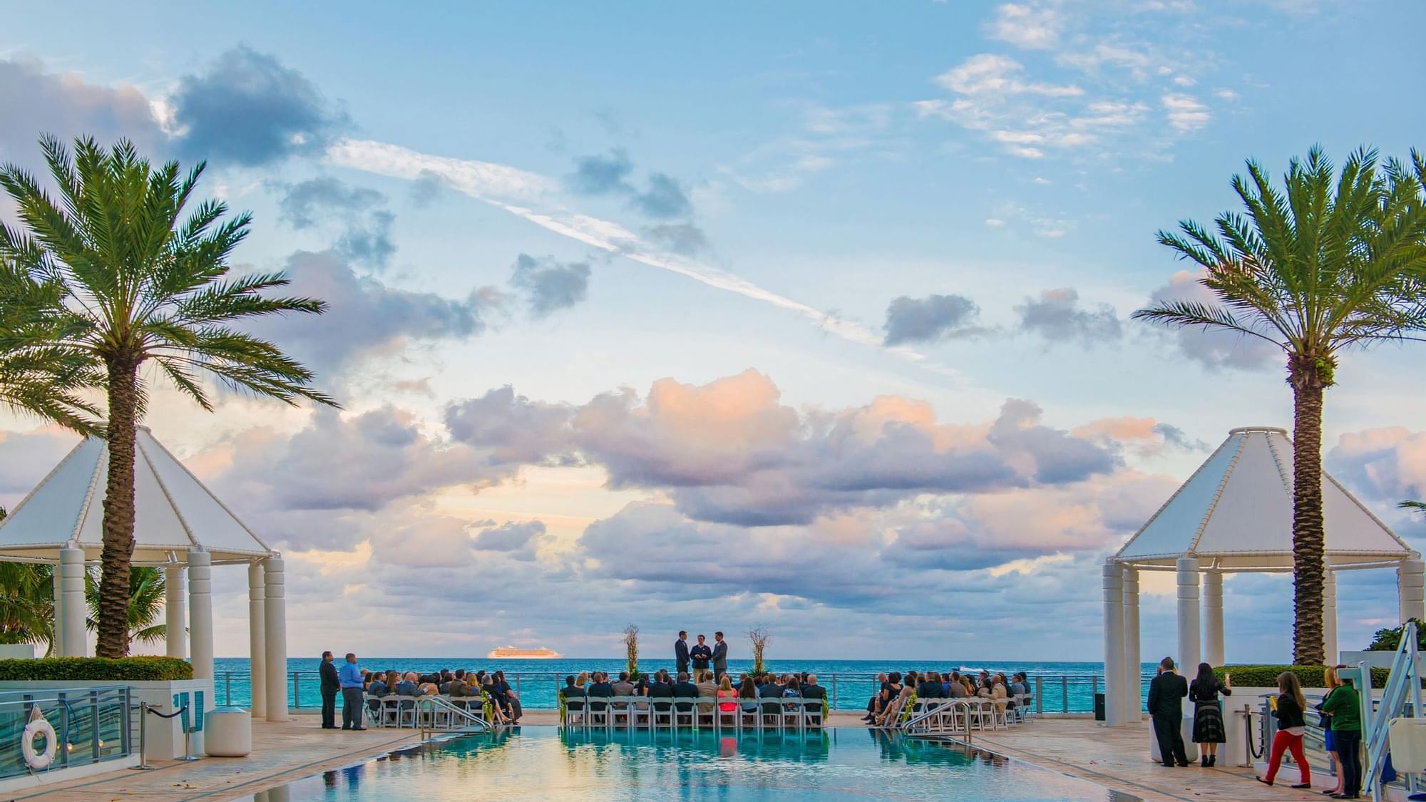
<path fill-rule="evenodd" d="M 1338 654 L 1336 572 L 1396 568 L 1399 615 L 1426 618 L 1426 564 L 1392 529 L 1322 472 L 1326 528 L 1323 642 Z M 1242 427 L 1214 451 L 1104 565 L 1105 724 L 1138 721 L 1139 571 L 1178 574 L 1178 654 L 1192 674 L 1224 664 L 1224 574 L 1292 572 L 1292 441 Z M 1202 588 L 1202 591 L 1201 591 Z"/>

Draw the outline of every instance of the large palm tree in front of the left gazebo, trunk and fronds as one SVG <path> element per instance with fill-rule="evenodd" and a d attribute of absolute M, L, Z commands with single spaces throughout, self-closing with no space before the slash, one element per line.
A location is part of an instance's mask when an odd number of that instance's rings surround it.
<path fill-rule="evenodd" d="M 230 277 L 228 257 L 248 234 L 247 213 L 204 201 L 187 217 L 204 164 L 181 176 L 177 161 L 153 168 L 134 146 L 108 150 L 93 138 L 40 147 L 57 200 L 23 168 L 0 167 L 0 187 L 24 228 L 0 225 L 0 255 L 19 280 L 0 283 L 0 308 L 20 325 L 0 342 L 10 358 L 56 354 L 101 371 L 107 394 L 108 484 L 100 555 L 98 656 L 128 654 L 128 585 L 134 549 L 134 437 L 148 400 L 145 362 L 204 410 L 202 378 L 240 392 L 297 404 L 335 402 L 311 387 L 312 372 L 265 340 L 232 328 L 255 315 L 321 314 L 312 298 L 267 297 L 284 273 Z M 19 354 L 20 357 L 16 357 Z"/>

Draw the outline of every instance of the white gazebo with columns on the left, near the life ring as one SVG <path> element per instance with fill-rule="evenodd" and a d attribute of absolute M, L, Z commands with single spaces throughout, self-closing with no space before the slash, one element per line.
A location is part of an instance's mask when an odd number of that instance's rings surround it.
<path fill-rule="evenodd" d="M 84 565 L 103 551 L 108 445 L 87 438 L 0 521 L 0 559 L 56 565 L 56 654 L 84 656 Z M 193 646 L 194 679 L 212 679 L 212 565 L 248 567 L 252 712 L 284 721 L 287 599 L 282 557 L 138 427 L 134 454 L 134 565 L 164 569 L 170 656 Z M 187 571 L 187 626 L 184 572 Z"/>

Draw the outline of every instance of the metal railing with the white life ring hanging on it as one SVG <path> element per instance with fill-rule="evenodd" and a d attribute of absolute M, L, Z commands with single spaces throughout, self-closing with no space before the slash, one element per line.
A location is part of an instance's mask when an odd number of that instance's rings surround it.
<path fill-rule="evenodd" d="M 34 709 L 54 728 L 54 759 L 44 769 L 100 763 L 127 758 L 133 748 L 134 716 L 128 686 L 58 688 L 0 692 L 0 778 L 31 773 L 20 751 Z"/>

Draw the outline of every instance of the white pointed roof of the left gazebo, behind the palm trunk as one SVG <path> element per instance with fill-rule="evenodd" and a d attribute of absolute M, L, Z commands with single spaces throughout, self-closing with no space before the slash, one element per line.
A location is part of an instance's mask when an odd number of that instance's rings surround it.
<path fill-rule="evenodd" d="M 67 544 L 98 559 L 103 548 L 108 444 L 86 438 L 0 521 L 0 557 L 57 562 Z M 214 564 L 251 562 L 272 554 L 212 492 L 138 427 L 134 454 L 134 565 L 183 561 L 190 548 Z"/>

